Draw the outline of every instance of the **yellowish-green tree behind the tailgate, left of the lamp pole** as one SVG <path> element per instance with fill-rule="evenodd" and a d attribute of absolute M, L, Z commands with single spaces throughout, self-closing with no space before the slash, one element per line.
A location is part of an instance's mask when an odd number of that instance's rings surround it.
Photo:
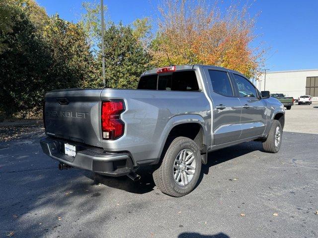
<path fill-rule="evenodd" d="M 50 89 L 98 86 L 97 64 L 81 22 L 72 23 L 54 15 L 43 35 L 53 62 L 48 69 Z"/>

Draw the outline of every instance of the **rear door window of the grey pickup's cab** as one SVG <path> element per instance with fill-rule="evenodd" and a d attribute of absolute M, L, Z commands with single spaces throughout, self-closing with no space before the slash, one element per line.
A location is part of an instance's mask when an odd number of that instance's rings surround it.
<path fill-rule="evenodd" d="M 213 91 L 227 97 L 233 97 L 233 90 L 228 73 L 225 71 L 209 70 Z"/>

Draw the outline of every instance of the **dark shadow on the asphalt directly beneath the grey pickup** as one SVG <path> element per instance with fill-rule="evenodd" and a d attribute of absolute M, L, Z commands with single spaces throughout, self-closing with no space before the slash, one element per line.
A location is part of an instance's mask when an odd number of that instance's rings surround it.
<path fill-rule="evenodd" d="M 204 175 L 209 174 L 211 167 L 226 161 L 235 159 L 239 156 L 248 154 L 253 151 L 262 151 L 262 144 L 260 142 L 245 142 L 232 147 L 210 152 L 208 155 L 208 164 L 202 165 L 201 174 L 196 186 L 200 184 Z M 144 194 L 154 190 L 155 182 L 152 176 L 153 168 L 151 166 L 141 167 L 137 174 L 141 176 L 139 181 L 132 181 L 127 176 L 123 177 L 107 177 L 98 174 L 90 174 L 87 177 L 94 180 L 93 184 L 104 184 L 108 187 L 122 189 L 127 192 Z"/>

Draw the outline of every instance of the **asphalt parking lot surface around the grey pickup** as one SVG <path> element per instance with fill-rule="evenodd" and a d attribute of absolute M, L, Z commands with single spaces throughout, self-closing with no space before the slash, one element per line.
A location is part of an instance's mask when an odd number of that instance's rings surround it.
<path fill-rule="evenodd" d="M 286 111 L 277 154 L 259 142 L 210 153 L 181 198 L 162 194 L 150 170 L 138 182 L 59 171 L 41 126 L 15 130 L 0 142 L 0 237 L 318 237 L 317 103 Z"/>

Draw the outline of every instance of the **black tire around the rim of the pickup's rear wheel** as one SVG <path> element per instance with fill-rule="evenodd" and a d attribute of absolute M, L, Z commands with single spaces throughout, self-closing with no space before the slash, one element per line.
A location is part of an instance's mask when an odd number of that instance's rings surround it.
<path fill-rule="evenodd" d="M 194 156 L 193 161 L 195 161 L 195 170 L 194 175 L 186 185 L 179 185 L 174 179 L 174 163 L 179 153 L 185 149 L 192 152 L 192 155 Z M 197 144 L 187 137 L 180 136 L 175 138 L 167 148 L 163 155 L 161 164 L 158 165 L 157 169 L 153 173 L 153 178 L 161 192 L 173 197 L 181 197 L 190 193 L 194 189 L 198 182 L 200 172 L 201 154 Z M 184 179 L 184 177 L 182 179 Z"/>

